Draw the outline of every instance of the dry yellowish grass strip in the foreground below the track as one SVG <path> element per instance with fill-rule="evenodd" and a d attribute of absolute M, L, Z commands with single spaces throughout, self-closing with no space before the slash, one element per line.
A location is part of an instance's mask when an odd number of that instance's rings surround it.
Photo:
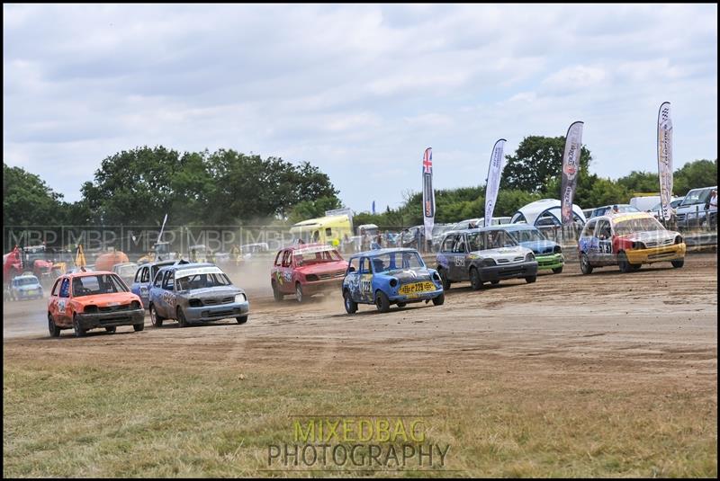
<path fill-rule="evenodd" d="M 61 360 L 58 360 L 61 363 Z M 4 363 L 4 477 L 249 477 L 293 414 L 431 414 L 446 471 L 364 476 L 716 477 L 716 393 L 509 371 Z M 432 379 L 428 381 L 428 379 Z M 550 384 L 552 386 L 552 383 Z M 716 386 L 716 384 L 715 384 Z M 312 472 L 357 476 L 338 471 Z"/>

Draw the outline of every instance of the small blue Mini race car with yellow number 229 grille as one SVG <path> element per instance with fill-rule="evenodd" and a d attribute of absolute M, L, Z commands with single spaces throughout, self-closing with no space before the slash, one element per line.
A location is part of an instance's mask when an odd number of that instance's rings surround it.
<path fill-rule="evenodd" d="M 405 307 L 410 302 L 436 306 L 445 302 L 440 275 L 422 260 L 415 249 L 378 249 L 350 257 L 343 298 L 347 314 L 357 311 L 358 304 L 374 304 L 388 312 L 391 304 Z"/>

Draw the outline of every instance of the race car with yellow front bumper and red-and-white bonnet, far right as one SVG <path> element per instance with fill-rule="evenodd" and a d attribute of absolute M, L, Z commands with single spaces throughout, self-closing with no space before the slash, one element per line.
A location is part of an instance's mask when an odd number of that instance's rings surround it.
<path fill-rule="evenodd" d="M 685 263 L 685 242 L 647 212 L 590 218 L 578 240 L 583 274 L 596 267 L 617 265 L 621 272 L 637 271 L 644 263 Z"/>

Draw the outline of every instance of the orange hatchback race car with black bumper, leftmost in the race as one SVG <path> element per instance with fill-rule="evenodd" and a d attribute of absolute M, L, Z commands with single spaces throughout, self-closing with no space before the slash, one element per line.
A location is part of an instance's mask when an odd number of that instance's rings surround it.
<path fill-rule="evenodd" d="M 95 328 L 114 333 L 118 325 L 142 331 L 145 311 L 117 274 L 78 272 L 60 276 L 53 284 L 48 301 L 50 336 L 58 337 L 62 329 L 73 329 L 77 337 Z"/>

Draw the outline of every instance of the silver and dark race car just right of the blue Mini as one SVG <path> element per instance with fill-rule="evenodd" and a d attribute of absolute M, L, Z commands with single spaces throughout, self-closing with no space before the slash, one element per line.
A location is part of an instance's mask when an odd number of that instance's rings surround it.
<path fill-rule="evenodd" d="M 503 227 L 482 227 L 451 232 L 437 253 L 437 272 L 447 290 L 453 282 L 468 281 L 473 289 L 503 279 L 537 279 L 533 251 L 509 236 Z"/>

